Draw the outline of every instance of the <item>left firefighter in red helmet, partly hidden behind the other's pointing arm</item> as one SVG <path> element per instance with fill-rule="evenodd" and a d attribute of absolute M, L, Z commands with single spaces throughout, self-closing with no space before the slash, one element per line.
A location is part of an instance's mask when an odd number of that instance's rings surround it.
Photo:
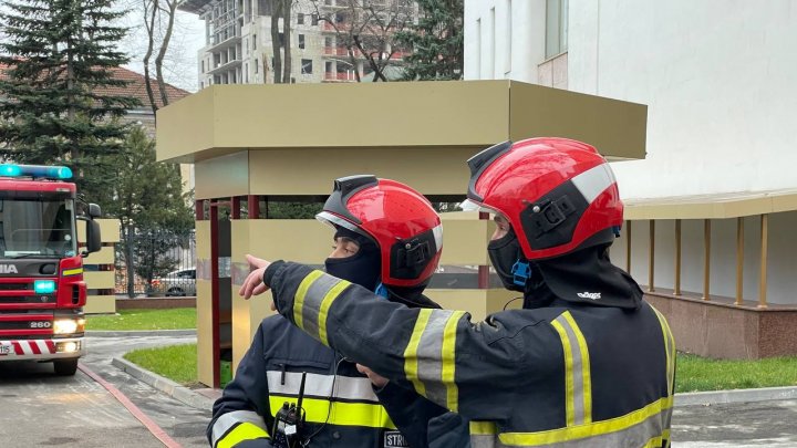
<path fill-rule="evenodd" d="M 441 220 L 417 191 L 373 176 L 338 179 L 317 218 L 334 229 L 334 246 L 324 261 L 324 280 L 304 282 L 308 304 L 356 284 L 385 302 L 439 309 L 423 290 L 443 248 Z M 396 427 L 401 420 L 391 420 L 369 378 L 315 341 L 325 341 L 332 331 L 322 315 L 293 316 L 312 329 L 312 337 L 282 316 L 262 321 L 235 379 L 214 405 L 207 429 L 213 447 L 415 447 L 414 440 L 425 439 L 418 431 L 402 436 Z M 291 425 L 283 417 L 300 389 L 303 423 Z M 431 409 L 429 418 L 445 411 L 414 392 L 391 390 L 380 393 L 390 393 L 394 403 L 411 400 L 416 409 Z"/>

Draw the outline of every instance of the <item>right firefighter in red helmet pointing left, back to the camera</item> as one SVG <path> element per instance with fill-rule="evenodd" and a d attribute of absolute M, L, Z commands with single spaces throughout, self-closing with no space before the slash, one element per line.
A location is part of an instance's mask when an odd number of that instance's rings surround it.
<path fill-rule="evenodd" d="M 490 260 L 524 309 L 473 323 L 352 286 L 328 300 L 324 343 L 459 413 L 474 446 L 669 446 L 674 341 L 609 260 L 622 202 L 605 159 L 580 142 L 532 138 L 487 148 L 468 166 L 468 200 L 495 213 Z M 290 319 L 312 312 L 294 300 L 310 275 L 261 262 L 240 292 L 271 288 Z"/>

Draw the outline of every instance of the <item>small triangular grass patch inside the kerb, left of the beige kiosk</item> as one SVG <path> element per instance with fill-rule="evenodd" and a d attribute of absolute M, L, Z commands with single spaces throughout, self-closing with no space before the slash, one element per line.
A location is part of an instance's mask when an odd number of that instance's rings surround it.
<path fill-rule="evenodd" d="M 176 383 L 197 383 L 196 344 L 142 348 L 125 354 L 124 358 Z"/>

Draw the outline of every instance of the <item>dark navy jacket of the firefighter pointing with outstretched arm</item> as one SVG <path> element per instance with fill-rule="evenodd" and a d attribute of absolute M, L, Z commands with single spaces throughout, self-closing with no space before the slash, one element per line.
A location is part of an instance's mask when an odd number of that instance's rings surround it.
<path fill-rule="evenodd" d="M 275 263 L 265 281 L 312 337 L 468 419 L 474 447 L 669 446 L 675 347 L 648 303 L 560 301 L 474 324 L 302 264 Z"/>

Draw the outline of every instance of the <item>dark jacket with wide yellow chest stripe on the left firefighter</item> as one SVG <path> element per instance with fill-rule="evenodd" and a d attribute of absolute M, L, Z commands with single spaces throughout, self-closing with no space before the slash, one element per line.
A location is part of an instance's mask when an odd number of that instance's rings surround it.
<path fill-rule="evenodd" d="M 423 298 L 420 303 L 434 304 L 426 301 Z M 302 435 L 310 438 L 310 447 L 426 446 L 427 421 L 407 424 L 414 430 L 410 437 L 401 435 L 354 363 L 279 315 L 262 321 L 235 379 L 214 405 L 207 434 L 210 445 L 271 447 L 273 416 L 284 402 L 297 402 L 303 372 L 308 374 L 302 404 L 308 424 Z M 413 390 L 396 390 L 386 399 L 412 400 L 429 419 L 445 411 Z"/>

